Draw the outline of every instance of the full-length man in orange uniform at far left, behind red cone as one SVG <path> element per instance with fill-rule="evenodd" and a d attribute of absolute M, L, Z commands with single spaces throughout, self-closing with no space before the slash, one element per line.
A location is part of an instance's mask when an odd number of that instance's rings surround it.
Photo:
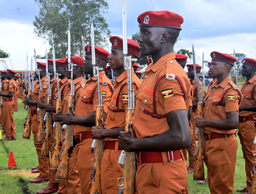
<path fill-rule="evenodd" d="M 13 111 L 14 111 L 14 92 L 16 91 L 16 84 L 14 81 L 14 75 L 16 74 L 15 71 L 7 69 L 6 78 L 9 80 L 6 85 L 6 88 L 0 94 L 3 96 L 3 108 L 2 111 L 2 121 L 5 126 L 5 133 L 6 136 L 2 140 L 16 140 L 16 125 L 13 118 Z M 4 85 L 5 85 L 4 84 Z"/>

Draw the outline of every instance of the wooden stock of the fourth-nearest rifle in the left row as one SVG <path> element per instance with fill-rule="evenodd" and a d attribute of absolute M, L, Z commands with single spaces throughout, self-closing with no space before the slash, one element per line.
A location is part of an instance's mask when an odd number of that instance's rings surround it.
<path fill-rule="evenodd" d="M 61 108 L 61 100 L 57 99 L 56 101 L 56 113 L 58 113 L 58 108 Z M 50 169 L 58 169 L 58 154 L 60 153 L 59 150 L 59 144 L 61 142 L 61 125 L 60 122 L 56 122 L 56 144 L 55 144 L 55 150 L 53 150 L 53 154 L 51 157 L 51 165 Z"/>

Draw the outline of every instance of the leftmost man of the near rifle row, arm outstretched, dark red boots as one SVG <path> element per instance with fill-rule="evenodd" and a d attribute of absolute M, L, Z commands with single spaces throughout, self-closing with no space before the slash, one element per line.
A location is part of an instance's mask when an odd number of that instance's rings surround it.
<path fill-rule="evenodd" d="M 41 71 L 40 73 L 40 78 L 42 82 L 42 94 L 43 97 L 45 97 L 45 92 L 47 91 L 47 85 L 48 81 L 46 79 L 46 63 L 41 63 L 37 62 L 37 68 L 39 68 Z M 38 78 L 39 75 L 36 75 L 36 78 Z M 39 173 L 39 176 L 30 180 L 29 182 L 31 183 L 40 183 L 42 181 L 49 181 L 49 158 L 42 158 L 40 157 L 41 149 L 42 149 L 42 144 L 37 144 L 36 139 L 37 139 L 37 132 L 38 132 L 38 127 L 39 127 L 39 121 L 38 121 L 38 112 L 37 112 L 37 102 L 39 99 L 39 81 L 37 82 L 35 89 L 32 93 L 32 99 L 27 98 L 25 100 L 25 103 L 27 105 L 32 105 L 32 118 L 31 118 L 31 130 L 34 135 L 34 145 L 36 147 L 36 153 L 38 157 L 38 167 L 33 167 L 31 170 L 31 173 Z"/>

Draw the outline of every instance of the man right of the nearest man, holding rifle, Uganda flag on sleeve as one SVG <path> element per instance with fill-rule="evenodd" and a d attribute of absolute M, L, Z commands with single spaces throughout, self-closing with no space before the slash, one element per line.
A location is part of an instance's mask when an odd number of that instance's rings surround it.
<path fill-rule="evenodd" d="M 216 79 L 205 97 L 204 118 L 196 116 L 197 127 L 204 127 L 206 142 L 204 162 L 207 166 L 211 193 L 233 193 L 237 155 L 236 133 L 238 110 L 242 94 L 229 75 L 236 58 L 229 54 L 211 52 L 209 73 Z M 196 149 L 194 160 L 197 162 Z"/>

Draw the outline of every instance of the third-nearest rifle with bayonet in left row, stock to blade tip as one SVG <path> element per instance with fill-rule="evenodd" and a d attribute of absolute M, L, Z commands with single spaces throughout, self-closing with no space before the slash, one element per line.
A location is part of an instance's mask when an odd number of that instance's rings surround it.
<path fill-rule="evenodd" d="M 71 63 L 70 58 L 70 31 L 68 30 L 68 71 L 71 71 L 71 81 L 70 81 L 70 94 L 68 96 L 68 112 L 69 107 L 72 107 L 74 112 L 74 83 L 73 83 L 73 66 L 76 64 Z M 65 127 L 64 127 L 65 126 Z M 56 173 L 56 180 L 68 180 L 68 151 L 69 148 L 73 146 L 73 125 L 63 125 L 62 128 L 66 128 L 65 134 L 65 147 L 61 154 L 61 161 L 59 163 L 57 173 Z"/>

